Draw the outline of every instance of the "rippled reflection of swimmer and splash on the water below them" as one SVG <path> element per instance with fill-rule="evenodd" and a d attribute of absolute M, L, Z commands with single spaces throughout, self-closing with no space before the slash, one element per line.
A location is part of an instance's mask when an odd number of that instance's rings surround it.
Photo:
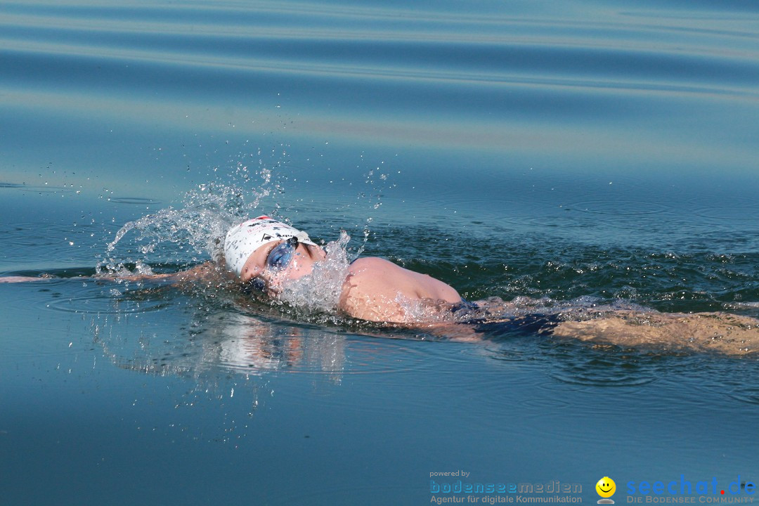
<path fill-rule="evenodd" d="M 115 297 L 114 289 L 99 288 L 79 297 L 84 309 L 74 312 L 87 313 L 89 304 L 81 300 L 110 304 L 92 319 L 95 341 L 118 366 L 151 375 L 203 382 L 228 372 L 245 377 L 286 372 L 324 376 L 337 385 L 346 374 L 427 367 L 418 350 L 393 339 L 415 340 L 414 332 L 378 333 L 370 326 L 364 328 L 368 334 L 354 334 L 345 323 L 309 325 L 282 319 L 288 315 L 280 312 L 279 306 L 262 306 L 224 290 L 202 290 L 183 293 L 168 287 L 137 288 L 125 289 Z M 168 302 L 162 312 L 153 312 L 159 301 Z M 145 310 L 129 310 L 135 306 Z M 178 325 L 172 338 L 166 338 L 167 318 Z"/>

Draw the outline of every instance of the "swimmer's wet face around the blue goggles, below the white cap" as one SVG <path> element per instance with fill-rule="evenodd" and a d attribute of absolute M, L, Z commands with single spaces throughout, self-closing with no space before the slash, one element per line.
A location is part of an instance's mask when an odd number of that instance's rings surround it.
<path fill-rule="evenodd" d="M 274 269 L 272 264 L 276 265 L 276 262 L 273 262 L 275 259 L 270 256 L 272 252 L 276 255 L 278 251 L 275 248 L 283 243 L 285 240 L 272 240 L 255 250 L 242 268 L 241 281 L 247 283 L 253 278 L 260 278 L 266 284 L 266 291 L 273 296 L 282 290 L 282 283 L 285 281 L 309 275 L 313 270 L 313 263 L 323 258 L 324 253 L 320 247 L 298 244 L 287 265 L 282 269 Z"/>

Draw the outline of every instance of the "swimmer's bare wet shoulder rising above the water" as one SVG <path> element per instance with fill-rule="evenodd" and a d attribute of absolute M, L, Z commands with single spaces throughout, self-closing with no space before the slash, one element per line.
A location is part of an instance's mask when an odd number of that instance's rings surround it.
<path fill-rule="evenodd" d="M 442 281 L 376 256 L 357 259 L 348 266 L 340 309 L 349 316 L 372 322 L 407 322 L 403 300 L 457 303 L 461 297 Z"/>

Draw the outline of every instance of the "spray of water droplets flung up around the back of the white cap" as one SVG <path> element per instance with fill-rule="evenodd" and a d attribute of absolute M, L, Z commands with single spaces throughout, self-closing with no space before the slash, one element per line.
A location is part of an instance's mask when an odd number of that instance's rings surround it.
<path fill-rule="evenodd" d="M 267 154 L 260 148 L 241 155 L 236 162 L 230 161 L 230 170 L 225 171 L 223 178 L 225 182 L 200 184 L 184 195 L 181 207 L 161 209 L 124 224 L 106 247 L 105 258 L 96 266 L 98 272 L 129 275 L 136 273 L 132 266 L 137 262 L 143 264 L 140 273 L 150 273 L 151 266 L 159 264 L 175 269 L 209 258 L 218 262 L 222 259 L 224 234 L 231 225 L 260 214 L 275 217 L 284 214 L 280 219 L 288 222 L 287 216 L 308 210 L 303 209 L 302 200 L 290 205 L 285 200 L 285 186 L 292 168 L 287 166 L 285 146 L 279 148 L 272 149 L 270 159 L 266 159 Z M 364 165 L 363 154 L 361 158 Z M 389 171 L 383 164 L 379 162 L 364 174 L 364 191 L 348 206 L 358 210 L 363 221 L 353 224 L 357 233 L 363 231 L 363 242 L 355 252 L 351 251 L 354 256 L 364 251 L 369 240 L 373 213 L 382 206 L 383 192 L 395 187 L 389 182 Z M 362 168 L 361 165 L 357 168 Z M 229 178 L 233 183 L 229 183 Z M 352 230 L 351 221 L 356 213 L 353 215 L 343 216 L 345 222 L 341 227 Z M 320 224 L 312 225 L 318 228 Z"/>

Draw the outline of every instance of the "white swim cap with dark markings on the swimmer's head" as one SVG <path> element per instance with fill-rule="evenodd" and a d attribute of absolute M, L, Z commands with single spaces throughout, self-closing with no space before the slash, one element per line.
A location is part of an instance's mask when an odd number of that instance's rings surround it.
<path fill-rule="evenodd" d="M 297 237 L 300 243 L 316 246 L 305 232 L 269 216 L 259 216 L 235 225 L 229 229 L 224 240 L 224 259 L 227 269 L 238 276 L 241 275 L 242 268 L 251 253 L 272 240 L 290 237 Z"/>

